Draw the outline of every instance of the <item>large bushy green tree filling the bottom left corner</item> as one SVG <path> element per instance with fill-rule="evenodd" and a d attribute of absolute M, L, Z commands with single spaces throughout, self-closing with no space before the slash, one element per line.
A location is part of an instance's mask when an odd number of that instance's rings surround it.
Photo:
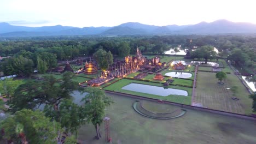
<path fill-rule="evenodd" d="M 60 123 L 50 121 L 43 112 L 26 109 L 4 119 L 0 127 L 4 129 L 4 139 L 14 143 L 56 143 L 63 131 Z"/>

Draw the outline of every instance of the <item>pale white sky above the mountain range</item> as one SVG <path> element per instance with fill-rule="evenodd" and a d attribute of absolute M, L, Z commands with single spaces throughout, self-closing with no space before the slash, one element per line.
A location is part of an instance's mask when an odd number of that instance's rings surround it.
<path fill-rule="evenodd" d="M 255 0 L 0 0 L 0 22 L 18 26 L 193 25 L 226 19 L 256 24 Z"/>

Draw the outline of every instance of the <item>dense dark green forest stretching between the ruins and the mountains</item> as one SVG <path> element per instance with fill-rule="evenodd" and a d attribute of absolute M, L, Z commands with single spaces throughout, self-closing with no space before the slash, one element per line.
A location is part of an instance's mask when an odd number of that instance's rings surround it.
<path fill-rule="evenodd" d="M 29 76 L 41 60 L 48 68 L 57 61 L 92 56 L 98 49 L 110 51 L 115 57 L 135 54 L 137 47 L 142 53 L 164 54 L 170 48 L 181 45 L 182 49 L 214 46 L 218 57 L 231 61 L 247 74 L 255 74 L 256 37 L 249 35 L 168 35 L 123 37 L 34 37 L 2 39 L 0 42 L 1 71 L 5 75 L 22 73 Z M 193 52 L 192 52 L 193 53 Z M 202 58 L 196 56 L 193 58 Z M 18 71 L 18 69 L 20 69 Z"/>

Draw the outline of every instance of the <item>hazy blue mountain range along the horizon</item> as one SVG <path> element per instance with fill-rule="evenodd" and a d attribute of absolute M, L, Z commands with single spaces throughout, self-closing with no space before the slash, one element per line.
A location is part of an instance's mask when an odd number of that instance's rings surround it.
<path fill-rule="evenodd" d="M 152 26 L 138 22 L 127 22 L 114 27 L 68 27 L 44 26 L 25 27 L 13 26 L 0 22 L 0 37 L 32 37 L 50 35 L 168 35 L 168 34 L 239 34 L 256 33 L 256 25 L 247 22 L 231 22 L 217 20 L 200 22 L 195 25 Z"/>

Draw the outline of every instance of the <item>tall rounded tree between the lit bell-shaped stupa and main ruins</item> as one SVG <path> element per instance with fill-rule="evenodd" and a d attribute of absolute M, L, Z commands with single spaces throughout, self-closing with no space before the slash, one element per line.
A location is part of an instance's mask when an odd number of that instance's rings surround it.
<path fill-rule="evenodd" d="M 107 70 L 109 65 L 113 63 L 113 56 L 110 51 L 106 52 L 105 50 L 98 49 L 94 53 L 94 57 L 102 71 Z"/>

